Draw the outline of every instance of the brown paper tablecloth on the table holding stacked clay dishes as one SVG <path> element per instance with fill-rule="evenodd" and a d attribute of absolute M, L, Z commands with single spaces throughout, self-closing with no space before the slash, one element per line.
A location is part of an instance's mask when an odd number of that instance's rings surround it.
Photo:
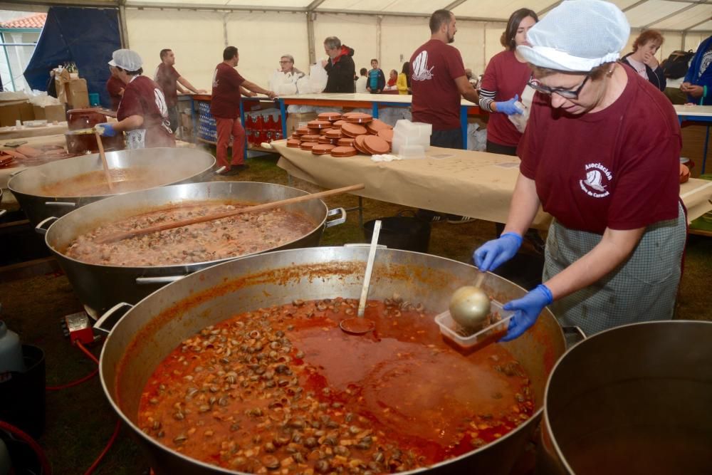
<path fill-rule="evenodd" d="M 358 196 L 436 212 L 504 223 L 519 174 L 519 159 L 486 152 L 430 147 L 426 158 L 372 162 L 368 155 L 335 158 L 272 142 L 277 162 L 293 177 L 325 188 L 363 183 Z M 688 220 L 712 209 L 712 182 L 690 179 L 681 185 Z M 540 211 L 533 227 L 547 229 L 551 216 Z"/>

